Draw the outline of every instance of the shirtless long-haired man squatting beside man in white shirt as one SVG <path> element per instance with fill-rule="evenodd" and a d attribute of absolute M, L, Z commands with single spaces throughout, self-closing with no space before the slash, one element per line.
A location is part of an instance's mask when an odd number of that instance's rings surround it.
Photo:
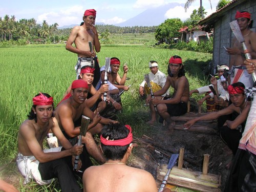
<path fill-rule="evenodd" d="M 157 112 L 167 122 L 168 129 L 172 133 L 174 131 L 175 122 L 170 120 L 170 116 L 180 116 L 187 112 L 187 101 L 189 98 L 189 83 L 185 76 L 184 66 L 181 57 L 175 55 L 169 59 L 168 76 L 164 87 L 155 92 L 155 96 L 161 96 L 167 92 L 169 87 L 174 88 L 173 98 L 160 100 L 151 98 L 148 95 L 146 103 L 150 101 L 157 105 Z"/>

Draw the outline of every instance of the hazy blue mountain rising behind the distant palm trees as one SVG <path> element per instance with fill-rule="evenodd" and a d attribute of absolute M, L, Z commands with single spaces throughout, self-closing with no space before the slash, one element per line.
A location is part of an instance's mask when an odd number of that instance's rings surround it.
<path fill-rule="evenodd" d="M 169 3 L 163 6 L 146 9 L 144 12 L 138 14 L 137 16 L 126 20 L 120 24 L 115 24 L 119 27 L 132 27 L 132 26 L 158 26 L 163 23 L 166 18 L 164 14 L 176 6 L 184 7 L 185 4 L 179 3 Z"/>

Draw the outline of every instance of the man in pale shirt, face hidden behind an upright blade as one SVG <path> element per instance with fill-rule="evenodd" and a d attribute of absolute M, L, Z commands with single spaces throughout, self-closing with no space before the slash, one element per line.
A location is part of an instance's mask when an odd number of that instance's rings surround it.
<path fill-rule="evenodd" d="M 102 66 L 100 68 L 100 73 L 101 73 L 101 79 L 96 85 L 96 88 L 95 88 L 96 90 L 99 90 L 104 82 L 105 66 Z M 107 92 L 108 102 L 106 103 L 107 104 L 106 108 L 101 112 L 101 116 L 105 118 L 114 119 L 116 118 L 117 112 L 122 109 L 122 105 L 121 105 L 122 103 L 121 103 L 121 97 L 119 95 L 119 89 L 117 89 L 117 87 L 114 86 L 109 81 L 110 76 L 111 76 L 111 73 L 108 73 L 108 84 L 109 84 L 109 91 Z"/>

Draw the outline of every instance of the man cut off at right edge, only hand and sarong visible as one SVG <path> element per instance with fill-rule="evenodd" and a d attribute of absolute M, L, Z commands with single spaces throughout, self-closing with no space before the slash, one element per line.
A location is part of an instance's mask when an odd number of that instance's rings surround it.
<path fill-rule="evenodd" d="M 244 61 L 248 73 L 255 71 L 256 59 Z M 256 89 L 252 88 L 249 95 L 253 97 L 245 130 L 239 142 L 238 151 L 234 157 L 230 174 L 225 185 L 225 192 L 256 190 Z"/>

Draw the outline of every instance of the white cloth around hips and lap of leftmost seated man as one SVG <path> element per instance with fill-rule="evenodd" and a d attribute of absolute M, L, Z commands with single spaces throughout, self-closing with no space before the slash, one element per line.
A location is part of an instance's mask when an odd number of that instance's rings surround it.
<path fill-rule="evenodd" d="M 49 148 L 43 150 L 44 153 L 60 152 L 61 147 Z M 17 157 L 17 165 L 20 173 L 25 177 L 24 184 L 29 183 L 30 179 L 34 179 L 38 184 L 45 185 L 50 184 L 51 180 L 42 180 L 40 172 L 38 170 L 39 161 L 34 156 L 24 156 L 21 153 Z"/>

